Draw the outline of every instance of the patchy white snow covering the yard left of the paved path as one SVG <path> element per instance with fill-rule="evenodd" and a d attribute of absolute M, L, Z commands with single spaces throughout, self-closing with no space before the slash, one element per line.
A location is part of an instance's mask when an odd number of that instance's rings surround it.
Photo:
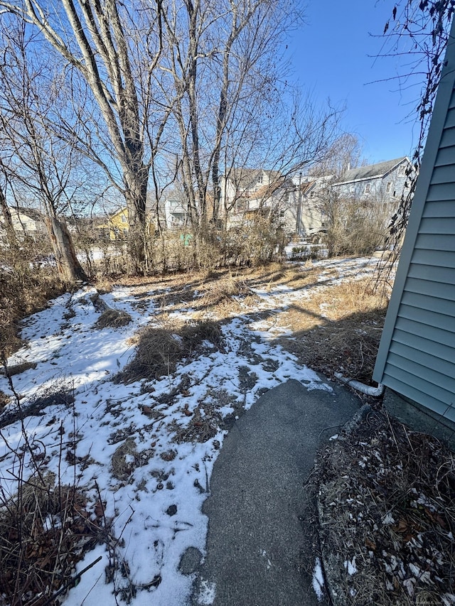
<path fill-rule="evenodd" d="M 348 259 L 344 263 L 317 261 L 315 265 L 321 268 L 323 281 L 326 271 L 332 272 L 333 280 L 338 279 L 333 277 L 333 271 L 353 276 L 374 268 L 368 259 Z M 157 285 L 149 294 L 163 291 Z M 273 309 L 277 314 L 293 301 L 309 296 L 305 288 L 301 291 L 274 288 L 256 293 L 257 309 Z M 184 413 L 185 406 L 187 412 L 192 412 L 198 404 L 211 404 L 225 416 L 235 412 L 235 403 L 250 408 L 264 390 L 289 378 L 303 382 L 307 389 L 331 388 L 315 372 L 299 364 L 296 357 L 274 344 L 273 338 L 280 331 L 287 334 L 286 327 L 278 328 L 273 318 L 255 322 L 247 315 L 233 316 L 223 323 L 223 352 L 205 347 L 197 359 L 181 362 L 175 373 L 149 382 L 150 389 L 142 389 L 141 382 L 114 384 L 112 377 L 134 355 L 132 337 L 144 325 L 153 325 L 161 310 L 155 308 L 151 299 L 144 301 L 141 296 L 138 301 L 133 287 L 118 286 L 100 298 L 107 305 L 129 313 L 133 321 L 122 328 L 100 330 L 94 326 L 101 313 L 94 304 L 96 294 L 95 288 L 90 287 L 67 293 L 23 323 L 21 336 L 27 345 L 8 360 L 9 365 L 36 362 L 36 368 L 13 377 L 22 406 L 26 408 L 34 398 L 56 389 L 69 391 L 74 401 L 65 404 L 56 399 L 38 416 L 26 416 L 24 428 L 20 421 L 15 421 L 2 430 L 2 490 L 5 495 L 16 493 L 16 480 L 9 470 L 18 464 L 13 451 L 23 447 L 25 431 L 28 441 L 45 454 L 46 470 L 55 473 L 63 483 L 72 484 L 76 477 L 77 487 L 87 495 L 87 507 L 90 509 L 92 505 L 91 511 L 100 491 L 106 502 L 105 516 L 113 520 L 111 534 L 118 541 L 117 560 L 129 570 L 126 575 L 116 568 L 112 580 L 106 583 L 105 570 L 112 563 L 112 555 L 109 556 L 106 546 L 98 545 L 77 564 L 77 572 L 99 556 L 102 559 L 85 571 L 64 604 L 112 604 L 114 591 L 119 596 L 122 592 L 127 595 L 134 587 L 132 606 L 151 602 L 155 606 L 182 606 L 191 593 L 193 576 L 183 575 L 178 566 L 188 547 L 205 553 L 208 519 L 201 509 L 210 491 L 210 475 L 225 435 L 225 431 L 218 431 L 205 443 L 177 443 L 175 423 L 185 427 L 190 422 Z M 182 308 L 173 311 L 172 317 L 188 321 L 193 313 Z M 248 389 L 241 384 L 241 369 L 247 369 L 249 376 L 255 374 L 255 384 Z M 188 379 L 185 392 L 159 404 L 159 397 L 169 394 L 183 377 Z M 5 377 L 0 377 L 0 389 L 11 395 Z M 221 390 L 230 399 L 218 406 L 216 394 Z M 161 415 L 147 416 L 144 406 Z M 6 407 L 6 413 L 11 408 L 14 404 Z M 85 460 L 75 467 L 65 459 L 66 451 L 73 448 L 77 460 Z M 169 455 L 171 451 L 173 455 Z M 113 461 L 121 456 L 127 470 L 124 476 L 114 469 Z M 26 452 L 24 473 L 30 469 L 30 455 Z M 171 506 L 171 510 L 176 508 L 175 515 L 167 513 Z M 316 594 L 322 595 L 323 577 L 318 560 L 313 584 Z M 208 605 L 214 599 L 215 587 L 203 582 L 199 603 Z"/>

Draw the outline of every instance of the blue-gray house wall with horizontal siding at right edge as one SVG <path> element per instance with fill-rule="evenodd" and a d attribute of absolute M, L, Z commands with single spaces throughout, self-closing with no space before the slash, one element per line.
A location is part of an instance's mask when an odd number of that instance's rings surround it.
<path fill-rule="evenodd" d="M 455 428 L 455 22 L 373 379 L 385 405 L 443 437 Z M 405 399 L 405 400 L 403 400 Z M 409 406 L 411 404 L 411 406 Z M 433 421 L 429 416 L 433 417 Z M 436 421 L 436 423 L 435 423 Z M 444 424 L 449 429 L 444 428 Z M 426 427 L 425 427 L 426 426 Z M 449 433 L 447 433 L 449 431 Z"/>

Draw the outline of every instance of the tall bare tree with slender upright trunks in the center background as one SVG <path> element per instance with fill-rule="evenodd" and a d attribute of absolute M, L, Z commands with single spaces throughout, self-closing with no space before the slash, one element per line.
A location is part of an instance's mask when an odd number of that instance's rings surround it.
<path fill-rule="evenodd" d="M 285 174 L 320 156 L 335 114 L 297 103 L 279 61 L 299 16 L 275 0 L 173 0 L 164 16 L 178 167 L 193 229 L 220 216 L 221 175 L 253 163 Z"/>

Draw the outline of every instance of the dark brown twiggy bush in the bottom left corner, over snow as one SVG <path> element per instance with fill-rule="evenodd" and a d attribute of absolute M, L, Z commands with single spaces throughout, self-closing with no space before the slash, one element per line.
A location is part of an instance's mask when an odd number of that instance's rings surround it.
<path fill-rule="evenodd" d="M 56 603 L 53 595 L 73 586 L 71 573 L 97 545 L 100 516 L 82 492 L 60 485 L 50 472 L 18 484 L 0 502 L 0 594 L 11 606 Z"/>

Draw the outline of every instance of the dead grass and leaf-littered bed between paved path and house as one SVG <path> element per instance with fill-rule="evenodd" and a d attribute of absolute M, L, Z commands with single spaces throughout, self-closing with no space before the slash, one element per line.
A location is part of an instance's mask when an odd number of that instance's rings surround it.
<path fill-rule="evenodd" d="M 454 604 L 454 453 L 371 411 L 316 470 L 336 606 Z"/>

